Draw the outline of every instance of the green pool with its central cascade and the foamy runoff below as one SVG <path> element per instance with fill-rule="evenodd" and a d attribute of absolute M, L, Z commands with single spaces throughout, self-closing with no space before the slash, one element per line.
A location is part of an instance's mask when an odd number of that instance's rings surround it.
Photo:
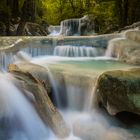
<path fill-rule="evenodd" d="M 103 71 L 127 69 L 131 68 L 131 65 L 106 57 L 43 57 L 35 58 L 32 62 L 48 67 L 51 71 L 53 98 L 66 122 L 71 126 L 72 135 L 82 140 L 135 140 L 133 134 L 123 128 L 117 120 L 110 120 L 104 112 L 95 108 L 93 105 L 96 104 L 96 99 L 93 99 L 95 98 L 94 83 L 90 86 L 89 81 L 86 84 L 89 87 L 82 87 L 83 80 L 80 77 L 80 75 L 86 77 L 88 72 L 90 77 L 95 72 L 98 76 Z M 58 70 L 59 75 L 55 73 L 55 69 Z M 80 81 L 77 81 L 77 77 Z M 84 81 L 84 85 L 85 83 Z"/>

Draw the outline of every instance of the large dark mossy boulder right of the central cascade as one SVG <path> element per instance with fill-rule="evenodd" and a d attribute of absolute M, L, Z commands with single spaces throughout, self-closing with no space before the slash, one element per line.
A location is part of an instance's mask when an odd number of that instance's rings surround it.
<path fill-rule="evenodd" d="M 103 73 L 96 94 L 111 115 L 128 111 L 140 115 L 140 68 Z"/>

